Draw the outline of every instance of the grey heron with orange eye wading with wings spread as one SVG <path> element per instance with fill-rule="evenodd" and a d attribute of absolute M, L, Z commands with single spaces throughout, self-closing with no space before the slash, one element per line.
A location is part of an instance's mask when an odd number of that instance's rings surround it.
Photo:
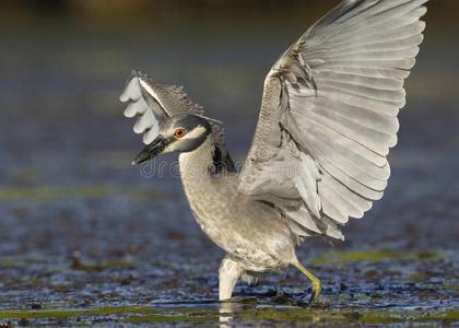
<path fill-rule="evenodd" d="M 120 101 L 144 149 L 132 164 L 177 152 L 183 188 L 202 231 L 225 250 L 219 300 L 236 283 L 297 268 L 308 237 L 344 239 L 342 227 L 379 200 L 397 144 L 404 80 L 423 42 L 428 0 L 344 0 L 272 66 L 244 166 L 223 124 L 183 87 L 132 71 Z"/>

